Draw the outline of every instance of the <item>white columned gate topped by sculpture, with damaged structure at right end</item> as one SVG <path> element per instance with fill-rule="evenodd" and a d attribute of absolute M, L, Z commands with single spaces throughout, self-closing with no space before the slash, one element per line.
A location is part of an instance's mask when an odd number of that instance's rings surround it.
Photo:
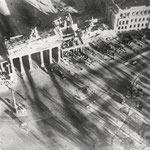
<path fill-rule="evenodd" d="M 54 23 L 55 35 L 40 37 L 37 28 L 31 30 L 29 38 L 22 35 L 4 41 L 7 59 L 0 60 L 0 72 L 7 74 L 24 73 L 41 67 L 47 70 L 50 64 L 58 63 L 67 56 L 83 52 L 84 44 L 77 36 L 77 24 L 71 15 L 59 17 Z"/>

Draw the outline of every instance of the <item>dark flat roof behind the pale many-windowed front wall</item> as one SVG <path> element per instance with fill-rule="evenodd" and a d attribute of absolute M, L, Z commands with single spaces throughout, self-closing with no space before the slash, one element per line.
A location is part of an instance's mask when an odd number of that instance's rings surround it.
<path fill-rule="evenodd" d="M 150 0 L 114 0 L 121 9 L 134 6 L 150 6 Z"/>

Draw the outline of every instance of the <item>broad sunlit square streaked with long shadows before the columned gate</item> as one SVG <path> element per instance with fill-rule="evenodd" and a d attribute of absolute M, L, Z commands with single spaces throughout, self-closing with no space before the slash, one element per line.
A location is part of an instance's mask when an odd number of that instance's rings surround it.
<path fill-rule="evenodd" d="M 139 112 L 126 98 L 127 87 L 137 77 L 149 80 L 150 52 L 133 52 L 124 64 L 73 63 L 59 65 L 66 79 L 40 68 L 20 75 L 15 96 L 27 111 L 15 115 L 11 110 L 11 92 L 1 96 L 1 149 L 11 150 L 142 150 L 150 144 L 149 99 Z M 132 59 L 138 64 L 132 65 Z M 71 73 L 73 72 L 73 73 Z M 139 76 L 141 75 L 142 76 Z M 138 78 L 146 82 L 143 78 Z M 138 81 L 137 80 L 137 81 Z M 135 82 L 136 83 L 136 82 Z M 79 89 L 89 86 L 86 95 Z M 9 105 L 10 104 L 10 105 Z M 26 122 L 29 131 L 20 128 Z M 8 142 L 9 137 L 9 142 Z"/>

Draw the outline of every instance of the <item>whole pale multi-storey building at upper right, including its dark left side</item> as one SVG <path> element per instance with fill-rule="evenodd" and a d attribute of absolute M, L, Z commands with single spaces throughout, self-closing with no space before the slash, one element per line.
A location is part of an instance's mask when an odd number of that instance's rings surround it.
<path fill-rule="evenodd" d="M 142 0 L 141 0 L 142 1 Z M 115 1 L 107 7 L 107 20 L 116 32 L 140 30 L 150 28 L 150 4 L 148 3 L 122 3 Z"/>

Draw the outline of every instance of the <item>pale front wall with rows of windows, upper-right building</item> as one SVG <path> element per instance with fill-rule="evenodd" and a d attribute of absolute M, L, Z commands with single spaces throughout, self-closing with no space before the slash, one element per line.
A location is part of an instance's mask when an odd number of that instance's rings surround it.
<path fill-rule="evenodd" d="M 115 16 L 113 29 L 116 32 L 150 28 L 150 6 L 120 9 Z"/>

